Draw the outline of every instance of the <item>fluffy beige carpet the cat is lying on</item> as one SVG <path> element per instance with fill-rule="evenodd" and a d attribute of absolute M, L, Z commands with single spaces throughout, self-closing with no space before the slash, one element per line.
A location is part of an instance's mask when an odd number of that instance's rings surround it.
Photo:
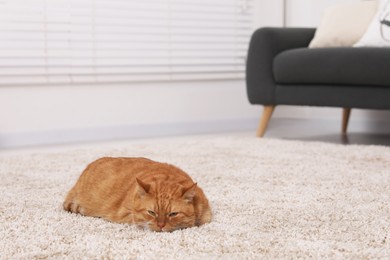
<path fill-rule="evenodd" d="M 145 156 L 186 170 L 212 223 L 173 233 L 66 213 L 86 164 Z M 390 258 L 390 148 L 252 137 L 145 141 L 0 158 L 0 258 Z"/>

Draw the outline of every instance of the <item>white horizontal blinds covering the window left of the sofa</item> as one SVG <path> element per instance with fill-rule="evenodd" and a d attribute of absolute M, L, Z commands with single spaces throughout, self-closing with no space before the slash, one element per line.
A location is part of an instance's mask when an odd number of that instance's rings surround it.
<path fill-rule="evenodd" d="M 0 86 L 243 78 L 253 0 L 0 0 Z"/>

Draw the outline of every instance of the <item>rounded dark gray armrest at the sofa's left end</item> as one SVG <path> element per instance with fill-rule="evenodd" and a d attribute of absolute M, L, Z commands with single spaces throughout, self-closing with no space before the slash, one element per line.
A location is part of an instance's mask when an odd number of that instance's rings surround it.
<path fill-rule="evenodd" d="M 247 95 L 251 104 L 275 105 L 274 57 L 282 51 L 307 47 L 314 28 L 260 28 L 252 35 L 246 65 Z"/>

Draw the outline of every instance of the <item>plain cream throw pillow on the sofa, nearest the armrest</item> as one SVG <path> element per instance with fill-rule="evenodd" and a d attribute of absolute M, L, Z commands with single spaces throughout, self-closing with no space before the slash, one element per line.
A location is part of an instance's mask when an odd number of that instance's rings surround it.
<path fill-rule="evenodd" d="M 327 8 L 309 48 L 351 47 L 365 33 L 378 1 L 343 3 Z"/>

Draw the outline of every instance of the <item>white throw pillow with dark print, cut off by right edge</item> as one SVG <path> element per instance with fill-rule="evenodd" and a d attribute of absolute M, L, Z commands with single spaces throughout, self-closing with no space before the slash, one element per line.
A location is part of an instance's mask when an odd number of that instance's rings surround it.
<path fill-rule="evenodd" d="M 355 47 L 390 47 L 390 0 L 379 0 L 376 15 Z"/>

